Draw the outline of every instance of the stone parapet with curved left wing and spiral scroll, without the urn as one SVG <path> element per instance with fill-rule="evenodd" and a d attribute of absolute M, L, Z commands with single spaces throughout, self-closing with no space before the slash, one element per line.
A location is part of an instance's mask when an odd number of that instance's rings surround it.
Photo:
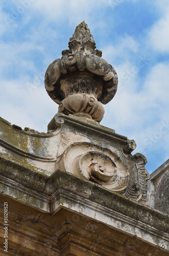
<path fill-rule="evenodd" d="M 62 169 L 82 179 L 122 193 L 136 201 L 149 202 L 149 174 L 146 158 L 124 153 L 133 141 L 107 129 L 93 120 L 57 114 L 48 125 L 49 132 L 40 134 L 21 131 L 2 120 L 0 140 L 1 164 L 10 161 L 9 171 L 25 168 L 23 180 L 31 182 L 28 170 L 47 177 Z M 12 135 L 12 137 L 10 136 Z M 19 138 L 16 140 L 16 138 Z M 1 172 L 5 174 L 5 167 Z M 21 175 L 21 174 L 20 174 Z M 37 179 L 37 178 L 36 178 Z M 41 178 L 38 178 L 43 186 Z M 12 192 L 13 193 L 13 192 Z"/>

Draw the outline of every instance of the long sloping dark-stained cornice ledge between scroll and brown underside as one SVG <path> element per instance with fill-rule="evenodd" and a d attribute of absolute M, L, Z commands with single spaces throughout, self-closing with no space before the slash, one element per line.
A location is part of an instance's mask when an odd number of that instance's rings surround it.
<path fill-rule="evenodd" d="M 50 214 L 69 209 L 169 252 L 165 214 L 62 170 L 46 177 L 15 168 L 15 176 L 8 168 L 1 175 L 1 194 Z"/>

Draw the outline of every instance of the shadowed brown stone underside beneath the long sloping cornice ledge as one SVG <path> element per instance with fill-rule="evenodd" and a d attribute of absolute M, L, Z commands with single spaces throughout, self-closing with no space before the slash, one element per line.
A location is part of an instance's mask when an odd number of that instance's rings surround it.
<path fill-rule="evenodd" d="M 9 251 L 11 256 L 167 256 L 168 253 L 136 236 L 94 219 L 60 209 L 54 215 L 0 195 L 0 254 L 3 250 L 4 200 L 9 203 Z M 29 227 L 29 228 L 27 228 Z M 134 246 L 132 246 L 134 245 Z"/>

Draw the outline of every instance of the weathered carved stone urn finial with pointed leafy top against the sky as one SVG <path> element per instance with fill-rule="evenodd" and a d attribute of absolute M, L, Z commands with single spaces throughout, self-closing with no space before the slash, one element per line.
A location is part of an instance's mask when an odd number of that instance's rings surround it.
<path fill-rule="evenodd" d="M 88 25 L 80 23 L 70 38 L 69 50 L 47 68 L 45 88 L 59 104 L 58 113 L 73 114 L 100 122 L 102 105 L 116 94 L 118 77 L 114 68 L 103 58 Z"/>

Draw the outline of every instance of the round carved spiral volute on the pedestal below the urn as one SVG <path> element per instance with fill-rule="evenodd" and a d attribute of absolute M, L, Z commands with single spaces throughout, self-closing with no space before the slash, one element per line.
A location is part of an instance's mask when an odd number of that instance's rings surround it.
<path fill-rule="evenodd" d="M 61 169 L 114 191 L 127 187 L 128 172 L 115 153 L 89 143 L 74 143 L 62 157 Z"/>

